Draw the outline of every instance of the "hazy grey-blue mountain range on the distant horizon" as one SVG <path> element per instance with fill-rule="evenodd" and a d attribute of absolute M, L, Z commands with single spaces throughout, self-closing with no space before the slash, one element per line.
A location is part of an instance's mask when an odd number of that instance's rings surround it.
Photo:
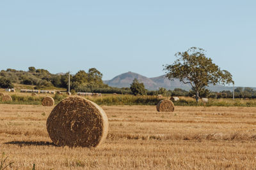
<path fill-rule="evenodd" d="M 180 88 L 188 91 L 191 89 L 191 85 L 184 84 L 180 82 L 178 79 L 169 80 L 168 78 L 165 77 L 165 75 L 157 76 L 154 78 L 147 78 L 146 76 L 142 76 L 141 74 L 138 74 L 138 73 L 132 73 L 131 71 L 115 76 L 111 80 L 104 81 L 104 83 L 108 84 L 111 87 L 119 87 L 119 88 L 130 87 L 134 78 L 137 78 L 138 81 L 144 83 L 145 89 L 148 89 L 148 90 L 158 90 L 160 87 L 164 87 L 167 90 Z M 233 87 L 227 87 L 223 85 L 209 85 L 207 89 L 213 92 L 220 92 L 223 90 L 232 91 Z"/>

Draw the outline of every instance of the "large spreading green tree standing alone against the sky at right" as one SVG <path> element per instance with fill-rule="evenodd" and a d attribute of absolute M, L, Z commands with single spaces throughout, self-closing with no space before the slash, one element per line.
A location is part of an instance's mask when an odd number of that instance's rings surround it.
<path fill-rule="evenodd" d="M 204 52 L 202 48 L 191 47 L 186 52 L 177 52 L 175 56 L 178 59 L 173 64 L 164 66 L 167 78 L 170 80 L 178 78 L 195 89 L 196 102 L 198 102 L 200 90 L 209 84 L 234 83 L 232 75 L 212 63 L 212 59 L 205 57 Z"/>

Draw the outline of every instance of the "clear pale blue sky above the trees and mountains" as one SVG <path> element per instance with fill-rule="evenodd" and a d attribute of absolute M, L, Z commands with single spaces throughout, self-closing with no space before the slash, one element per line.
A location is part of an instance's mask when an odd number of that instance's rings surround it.
<path fill-rule="evenodd" d="M 256 1 L 1 0 L 0 69 L 154 77 L 197 46 L 237 86 L 256 87 L 255 9 Z"/>

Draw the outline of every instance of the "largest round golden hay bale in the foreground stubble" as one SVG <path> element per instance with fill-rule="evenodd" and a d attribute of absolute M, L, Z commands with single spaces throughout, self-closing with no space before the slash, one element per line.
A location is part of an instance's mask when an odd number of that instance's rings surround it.
<path fill-rule="evenodd" d="M 79 96 L 63 99 L 47 118 L 47 131 L 58 146 L 96 147 L 108 134 L 108 117 L 97 104 Z"/>

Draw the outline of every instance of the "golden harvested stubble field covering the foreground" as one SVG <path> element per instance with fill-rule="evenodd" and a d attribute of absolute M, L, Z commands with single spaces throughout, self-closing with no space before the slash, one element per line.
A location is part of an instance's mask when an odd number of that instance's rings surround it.
<path fill-rule="evenodd" d="M 102 106 L 109 134 L 98 148 L 54 146 L 45 125 L 52 108 L 0 104 L 0 151 L 12 169 L 256 167 L 256 108 Z"/>

